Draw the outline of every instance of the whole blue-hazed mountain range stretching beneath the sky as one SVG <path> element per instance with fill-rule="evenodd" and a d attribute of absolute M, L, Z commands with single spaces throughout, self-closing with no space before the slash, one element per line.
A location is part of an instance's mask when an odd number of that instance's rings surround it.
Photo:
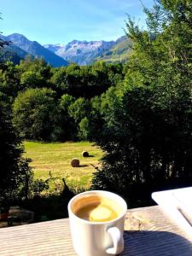
<path fill-rule="evenodd" d="M 127 37 L 116 41 L 79 41 L 64 44 L 41 45 L 18 33 L 0 36 L 3 40 L 12 42 L 0 52 L 0 59 L 9 56 L 10 61 L 19 63 L 25 55 L 43 57 L 53 67 L 67 66 L 69 62 L 79 65 L 90 65 L 98 60 L 107 62 L 125 62 L 131 55 L 131 41 Z"/>

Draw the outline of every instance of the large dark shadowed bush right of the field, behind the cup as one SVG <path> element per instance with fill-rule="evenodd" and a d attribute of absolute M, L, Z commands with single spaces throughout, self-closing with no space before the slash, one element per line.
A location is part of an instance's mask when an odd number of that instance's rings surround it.
<path fill-rule="evenodd" d="M 93 178 L 93 189 L 123 195 L 131 206 L 149 203 L 154 190 L 192 181 L 192 105 L 190 96 L 160 102 L 163 91 L 136 88 L 111 109 L 97 138 L 108 154 Z"/>

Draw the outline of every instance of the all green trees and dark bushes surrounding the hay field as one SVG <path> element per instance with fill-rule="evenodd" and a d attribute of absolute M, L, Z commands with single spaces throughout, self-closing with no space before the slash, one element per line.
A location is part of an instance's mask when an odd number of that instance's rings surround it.
<path fill-rule="evenodd" d="M 133 49 L 125 64 L 1 63 L 3 199 L 28 199 L 23 140 L 95 143 L 105 155 L 91 189 L 118 193 L 129 207 L 151 205 L 155 190 L 191 185 L 192 3 L 162 0 L 143 11 L 144 30 L 127 17 Z"/>

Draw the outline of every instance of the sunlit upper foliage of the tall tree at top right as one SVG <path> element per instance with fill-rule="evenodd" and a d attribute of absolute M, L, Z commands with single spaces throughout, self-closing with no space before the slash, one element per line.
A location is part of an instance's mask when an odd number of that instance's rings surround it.
<path fill-rule="evenodd" d="M 135 49 L 126 75 L 129 86 L 172 84 L 179 76 L 183 79 L 189 77 L 191 9 L 190 1 L 172 0 L 156 3 L 151 10 L 145 8 L 148 31 L 144 32 L 131 19 L 128 20 L 127 35 L 134 42 Z"/>

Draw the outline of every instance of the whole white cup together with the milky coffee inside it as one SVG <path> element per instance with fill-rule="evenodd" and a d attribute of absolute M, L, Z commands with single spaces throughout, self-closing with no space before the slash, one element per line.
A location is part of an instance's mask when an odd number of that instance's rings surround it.
<path fill-rule="evenodd" d="M 110 256 L 124 249 L 123 198 L 94 190 L 75 195 L 68 203 L 73 247 L 79 256 Z"/>

